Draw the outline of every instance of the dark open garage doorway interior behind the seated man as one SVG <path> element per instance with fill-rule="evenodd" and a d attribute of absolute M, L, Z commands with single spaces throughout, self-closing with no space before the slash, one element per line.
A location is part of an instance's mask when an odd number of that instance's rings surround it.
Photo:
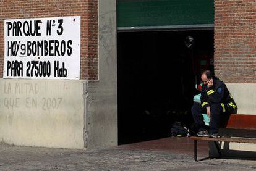
<path fill-rule="evenodd" d="M 117 33 L 119 144 L 171 136 L 193 126 L 200 72 L 213 70 L 213 30 Z"/>

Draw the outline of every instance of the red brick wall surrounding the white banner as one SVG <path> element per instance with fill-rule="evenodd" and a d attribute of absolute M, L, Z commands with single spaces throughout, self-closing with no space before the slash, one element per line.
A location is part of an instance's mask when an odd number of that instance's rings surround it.
<path fill-rule="evenodd" d="M 0 0 L 0 77 L 4 19 L 81 16 L 81 79 L 98 79 L 98 0 Z"/>

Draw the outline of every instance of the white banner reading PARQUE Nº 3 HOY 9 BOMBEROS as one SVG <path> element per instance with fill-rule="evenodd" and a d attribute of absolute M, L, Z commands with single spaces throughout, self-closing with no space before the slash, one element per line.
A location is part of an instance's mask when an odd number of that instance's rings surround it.
<path fill-rule="evenodd" d="M 80 16 L 4 20 L 4 78 L 80 79 Z"/>

